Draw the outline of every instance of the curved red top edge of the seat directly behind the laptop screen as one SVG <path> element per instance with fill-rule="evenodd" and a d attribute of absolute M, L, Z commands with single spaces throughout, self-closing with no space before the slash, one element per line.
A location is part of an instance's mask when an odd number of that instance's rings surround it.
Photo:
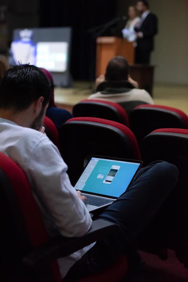
<path fill-rule="evenodd" d="M 118 123 L 116 121 L 109 121 L 107 119 L 99 119 L 99 118 L 95 118 L 95 117 L 74 117 L 72 119 L 69 119 L 67 122 L 69 122 L 69 121 L 91 121 L 91 122 L 111 125 L 111 126 L 114 126 L 118 129 L 120 129 L 129 139 L 130 144 L 133 148 L 135 159 L 141 160 L 141 155 L 140 155 L 140 151 L 139 151 L 139 148 L 138 148 L 137 140 L 136 140 L 133 132 L 128 127 L 126 127 L 125 125 Z"/>

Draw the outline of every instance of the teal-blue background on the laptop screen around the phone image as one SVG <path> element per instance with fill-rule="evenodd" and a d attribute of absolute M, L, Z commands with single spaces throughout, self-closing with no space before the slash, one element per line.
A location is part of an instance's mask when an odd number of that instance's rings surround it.
<path fill-rule="evenodd" d="M 120 169 L 116 173 L 111 184 L 103 183 L 106 175 L 111 169 L 112 165 L 119 165 Z M 135 163 L 120 163 L 114 161 L 99 160 L 91 172 L 89 178 L 85 182 L 82 191 L 108 195 L 112 197 L 119 197 L 125 192 L 129 183 L 131 182 L 139 164 Z M 103 174 L 103 179 L 97 178 L 99 174 Z"/>

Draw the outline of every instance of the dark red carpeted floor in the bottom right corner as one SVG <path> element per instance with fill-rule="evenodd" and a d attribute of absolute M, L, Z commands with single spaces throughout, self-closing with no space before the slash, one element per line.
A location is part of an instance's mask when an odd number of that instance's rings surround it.
<path fill-rule="evenodd" d="M 188 282 L 188 269 L 181 264 L 175 252 L 168 250 L 168 260 L 139 251 L 145 262 L 142 270 L 133 282 Z"/>

